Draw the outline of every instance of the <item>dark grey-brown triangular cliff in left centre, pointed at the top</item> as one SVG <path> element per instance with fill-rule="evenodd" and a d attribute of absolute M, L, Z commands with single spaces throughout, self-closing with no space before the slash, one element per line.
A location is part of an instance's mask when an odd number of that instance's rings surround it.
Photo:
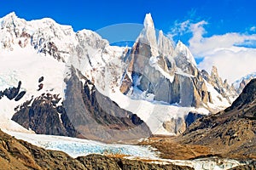
<path fill-rule="evenodd" d="M 137 115 L 119 108 L 100 94 L 90 80 L 82 79 L 84 84 L 72 70 L 72 76 L 66 80 L 67 94 L 63 103 L 73 126 L 85 138 L 116 142 L 151 135 L 148 126 Z"/>

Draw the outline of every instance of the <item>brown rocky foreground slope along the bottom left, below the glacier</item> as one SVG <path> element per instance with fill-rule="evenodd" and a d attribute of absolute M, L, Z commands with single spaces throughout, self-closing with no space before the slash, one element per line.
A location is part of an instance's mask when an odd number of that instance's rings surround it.
<path fill-rule="evenodd" d="M 121 156 L 90 155 L 76 159 L 66 153 L 44 150 L 15 139 L 0 130 L 0 169 L 192 169 L 177 165 L 153 164 Z"/>

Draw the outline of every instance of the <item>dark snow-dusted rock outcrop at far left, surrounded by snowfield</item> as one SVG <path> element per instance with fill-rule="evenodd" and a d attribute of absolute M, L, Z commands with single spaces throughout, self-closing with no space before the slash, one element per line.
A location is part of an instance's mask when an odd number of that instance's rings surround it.
<path fill-rule="evenodd" d="M 35 133 L 79 137 L 57 95 L 42 94 L 21 105 L 12 120 Z"/>

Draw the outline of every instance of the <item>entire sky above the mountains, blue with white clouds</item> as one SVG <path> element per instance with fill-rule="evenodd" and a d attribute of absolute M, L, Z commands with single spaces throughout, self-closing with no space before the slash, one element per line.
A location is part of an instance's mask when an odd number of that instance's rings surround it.
<path fill-rule="evenodd" d="M 188 45 L 202 69 L 210 71 L 217 65 L 220 75 L 232 82 L 256 71 L 252 65 L 256 63 L 255 5 L 253 0 L 1 0 L 0 17 L 14 11 L 26 20 L 49 17 L 73 26 L 74 31 L 96 31 L 114 24 L 143 24 L 145 14 L 151 13 L 155 28 Z M 244 60 L 250 65 L 241 67 Z M 224 62 L 229 61 L 234 65 L 226 67 Z M 238 67 L 241 69 L 234 73 Z M 231 73 L 234 76 L 230 77 Z"/>

